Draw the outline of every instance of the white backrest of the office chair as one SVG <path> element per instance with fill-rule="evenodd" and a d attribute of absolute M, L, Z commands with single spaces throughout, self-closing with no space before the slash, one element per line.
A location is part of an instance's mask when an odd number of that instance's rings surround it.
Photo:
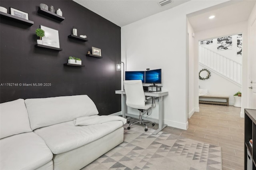
<path fill-rule="evenodd" d="M 145 95 L 141 80 L 125 80 L 126 105 L 135 109 L 145 108 Z"/>

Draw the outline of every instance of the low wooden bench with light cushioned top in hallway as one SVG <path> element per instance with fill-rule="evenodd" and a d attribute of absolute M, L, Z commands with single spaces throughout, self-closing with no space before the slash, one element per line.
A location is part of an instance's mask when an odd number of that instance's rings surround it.
<path fill-rule="evenodd" d="M 211 101 L 211 99 L 225 99 L 226 101 Z M 209 103 L 218 105 L 227 105 L 229 102 L 228 95 L 202 95 L 199 96 L 199 103 Z"/>

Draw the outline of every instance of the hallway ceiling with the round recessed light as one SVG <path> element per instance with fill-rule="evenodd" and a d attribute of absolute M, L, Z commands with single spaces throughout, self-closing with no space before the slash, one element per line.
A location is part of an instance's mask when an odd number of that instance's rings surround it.
<path fill-rule="evenodd" d="M 188 20 L 194 32 L 247 21 L 256 0 L 233 0 L 192 14 Z M 214 15 L 214 19 L 209 16 Z"/>

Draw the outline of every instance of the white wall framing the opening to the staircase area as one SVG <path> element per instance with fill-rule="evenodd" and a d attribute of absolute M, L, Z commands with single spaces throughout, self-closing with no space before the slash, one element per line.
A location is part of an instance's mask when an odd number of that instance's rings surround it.
<path fill-rule="evenodd" d="M 207 40 L 207 39 L 217 38 L 217 37 L 222 37 L 222 36 L 231 36 L 231 35 L 241 34 L 241 33 L 243 34 L 243 49 L 247 49 L 247 46 L 248 46 L 247 22 L 240 22 L 237 24 L 231 24 L 231 25 L 227 25 L 227 26 L 223 26 L 223 27 L 219 27 L 219 28 L 195 32 L 194 55 L 198 56 L 198 42 L 201 40 Z M 195 61 L 196 61 L 196 59 L 195 59 Z M 194 65 L 194 69 L 195 69 L 195 71 L 199 70 L 198 63 L 196 63 L 196 62 Z M 244 112 L 244 107 L 245 107 L 244 102 L 247 101 L 247 92 L 244 90 L 244 86 L 245 86 L 244 82 L 246 82 L 245 77 L 247 77 L 247 50 L 244 50 L 243 55 L 242 55 L 242 108 L 241 108 L 241 112 Z M 196 87 L 197 86 L 196 83 L 198 82 L 198 75 L 196 75 L 196 74 L 194 76 L 194 82 L 195 82 L 195 87 Z M 216 82 L 216 84 L 217 83 L 218 82 Z M 201 87 L 201 88 L 203 88 L 203 87 Z M 195 91 L 197 91 L 197 94 L 198 94 L 198 89 L 195 88 Z M 194 96 L 194 100 L 198 101 L 198 95 Z M 195 107 L 198 107 L 198 105 L 195 105 Z"/>

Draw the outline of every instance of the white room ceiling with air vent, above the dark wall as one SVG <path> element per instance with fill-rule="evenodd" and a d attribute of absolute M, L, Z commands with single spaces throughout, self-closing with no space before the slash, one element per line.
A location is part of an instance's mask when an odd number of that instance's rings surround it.
<path fill-rule="evenodd" d="M 125 26 L 178 6 L 189 0 L 172 0 L 170 4 L 160 6 L 163 0 L 73 0 L 92 12 L 113 22 L 117 26 Z"/>

